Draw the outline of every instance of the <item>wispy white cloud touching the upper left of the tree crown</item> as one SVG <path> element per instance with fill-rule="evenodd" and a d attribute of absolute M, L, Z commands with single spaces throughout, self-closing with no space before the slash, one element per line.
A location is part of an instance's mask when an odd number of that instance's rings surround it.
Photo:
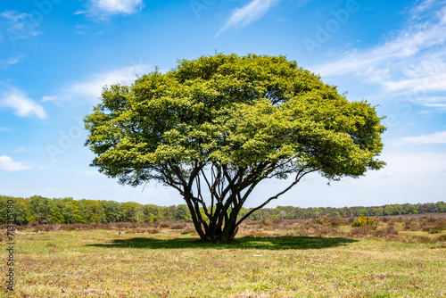
<path fill-rule="evenodd" d="M 65 97 L 71 99 L 75 96 L 83 96 L 96 101 L 102 93 L 104 86 L 111 86 L 115 84 L 131 85 L 135 82 L 136 74 L 145 74 L 150 70 L 148 64 L 134 64 L 132 66 L 124 67 L 120 70 L 111 70 L 109 72 L 98 73 L 82 82 L 78 82 L 69 87 L 64 93 Z M 58 96 L 45 96 L 46 100 L 54 99 Z"/>

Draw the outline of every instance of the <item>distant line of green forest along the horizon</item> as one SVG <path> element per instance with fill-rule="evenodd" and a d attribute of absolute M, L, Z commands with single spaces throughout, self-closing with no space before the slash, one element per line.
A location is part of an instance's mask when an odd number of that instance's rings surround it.
<path fill-rule="evenodd" d="M 0 224 L 7 222 L 9 200 L 13 201 L 13 217 L 16 225 L 25 225 L 33 221 L 40 224 L 192 221 L 186 204 L 164 207 L 153 204 L 142 205 L 134 202 L 74 200 L 70 197 L 49 199 L 39 195 L 33 195 L 29 198 L 0 195 Z M 250 209 L 243 208 L 239 216 L 243 217 L 248 211 Z M 255 211 L 249 219 L 310 219 L 321 216 L 349 218 L 360 214 L 364 216 L 384 216 L 432 212 L 446 212 L 446 203 L 403 203 L 376 207 L 343 208 L 277 206 L 276 208 L 263 208 Z M 204 212 L 202 213 L 206 218 Z"/>

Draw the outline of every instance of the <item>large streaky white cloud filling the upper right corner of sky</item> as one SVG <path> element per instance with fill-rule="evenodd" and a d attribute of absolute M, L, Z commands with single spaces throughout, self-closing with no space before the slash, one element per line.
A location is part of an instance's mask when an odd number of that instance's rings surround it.
<path fill-rule="evenodd" d="M 384 44 L 353 50 L 313 69 L 323 77 L 353 75 L 385 92 L 411 94 L 419 104 L 434 102 L 441 108 L 446 104 L 446 97 L 438 95 L 446 91 L 446 3 L 418 3 L 409 10 L 405 27 Z"/>

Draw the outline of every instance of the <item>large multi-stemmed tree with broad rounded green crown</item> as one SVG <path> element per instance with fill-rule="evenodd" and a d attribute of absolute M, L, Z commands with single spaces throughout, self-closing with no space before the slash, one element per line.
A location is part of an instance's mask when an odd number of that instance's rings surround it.
<path fill-rule="evenodd" d="M 85 118 L 86 145 L 91 166 L 121 184 L 175 188 L 203 241 L 229 241 L 312 172 L 332 181 L 382 168 L 381 120 L 284 56 L 215 54 L 105 87 Z M 289 185 L 237 219 L 268 178 Z"/>

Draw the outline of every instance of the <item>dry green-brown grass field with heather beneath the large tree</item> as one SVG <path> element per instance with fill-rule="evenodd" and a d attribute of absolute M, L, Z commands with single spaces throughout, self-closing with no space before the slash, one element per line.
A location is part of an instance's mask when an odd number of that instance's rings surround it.
<path fill-rule="evenodd" d="M 15 289 L 0 296 L 446 295 L 444 215 L 351 220 L 246 222 L 232 244 L 197 242 L 187 223 L 28 226 L 15 236 Z"/>

